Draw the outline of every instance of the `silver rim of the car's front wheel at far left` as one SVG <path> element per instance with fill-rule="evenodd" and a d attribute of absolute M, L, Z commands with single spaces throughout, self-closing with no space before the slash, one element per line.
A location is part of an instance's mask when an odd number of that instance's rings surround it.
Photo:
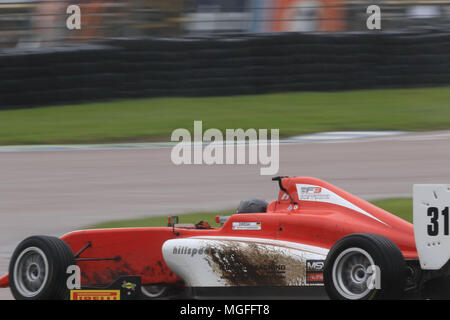
<path fill-rule="evenodd" d="M 38 295 L 47 283 L 48 260 L 44 252 L 37 247 L 23 250 L 14 264 L 14 284 L 24 297 Z"/>

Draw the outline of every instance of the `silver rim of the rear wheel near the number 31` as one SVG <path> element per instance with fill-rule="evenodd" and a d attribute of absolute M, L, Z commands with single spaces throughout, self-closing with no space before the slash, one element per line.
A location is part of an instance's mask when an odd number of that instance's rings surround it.
<path fill-rule="evenodd" d="M 369 267 L 374 265 L 370 254 L 361 248 L 342 251 L 333 265 L 334 287 L 346 299 L 365 297 L 372 290 L 368 286 L 368 279 L 371 276 Z"/>

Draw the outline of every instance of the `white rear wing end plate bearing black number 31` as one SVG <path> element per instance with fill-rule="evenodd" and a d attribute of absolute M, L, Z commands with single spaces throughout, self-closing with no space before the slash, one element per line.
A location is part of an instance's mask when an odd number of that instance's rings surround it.
<path fill-rule="evenodd" d="M 437 270 L 450 258 L 450 184 L 416 184 L 414 237 L 422 269 Z"/>

